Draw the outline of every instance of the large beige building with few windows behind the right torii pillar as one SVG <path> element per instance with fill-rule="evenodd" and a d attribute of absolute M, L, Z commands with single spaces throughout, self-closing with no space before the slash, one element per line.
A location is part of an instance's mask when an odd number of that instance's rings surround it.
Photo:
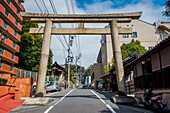
<path fill-rule="evenodd" d="M 145 49 L 150 50 L 161 40 L 170 36 L 168 22 L 150 24 L 142 20 L 132 20 L 131 23 L 118 23 L 122 28 L 132 28 L 132 34 L 119 35 L 120 45 L 130 43 L 132 39 L 139 40 Z M 108 26 L 107 26 L 108 27 Z M 102 35 L 101 39 L 101 58 L 102 64 L 107 65 L 113 58 L 113 50 L 110 35 Z"/>

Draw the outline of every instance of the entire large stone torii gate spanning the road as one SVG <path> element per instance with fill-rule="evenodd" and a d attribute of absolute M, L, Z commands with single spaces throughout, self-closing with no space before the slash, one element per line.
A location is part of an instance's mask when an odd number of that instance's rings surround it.
<path fill-rule="evenodd" d="M 116 78 L 119 92 L 126 94 L 124 69 L 119 42 L 119 34 L 132 34 L 132 28 L 118 27 L 117 23 L 130 22 L 139 19 L 142 12 L 117 13 L 117 14 L 89 14 L 89 15 L 66 15 L 66 14 L 39 14 L 22 12 L 24 19 L 34 23 L 45 23 L 45 27 L 30 28 L 30 34 L 44 34 L 40 66 L 38 70 L 38 82 L 36 96 L 42 97 L 45 87 L 45 76 L 51 42 L 51 35 L 101 35 L 111 34 L 113 55 L 115 61 Z M 55 28 L 53 23 L 78 23 L 78 28 Z M 84 28 L 84 23 L 109 23 L 110 28 Z"/>

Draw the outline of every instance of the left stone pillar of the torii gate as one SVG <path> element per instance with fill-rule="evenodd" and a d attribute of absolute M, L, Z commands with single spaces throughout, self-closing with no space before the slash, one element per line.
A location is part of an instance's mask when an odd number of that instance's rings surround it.
<path fill-rule="evenodd" d="M 41 57 L 40 57 L 40 65 L 38 70 L 38 82 L 36 88 L 36 97 L 43 97 L 45 91 L 45 77 L 47 72 L 47 64 L 48 57 L 50 51 L 50 43 L 51 43 L 51 30 L 52 30 L 52 21 L 46 20 L 44 37 L 41 48 Z"/>

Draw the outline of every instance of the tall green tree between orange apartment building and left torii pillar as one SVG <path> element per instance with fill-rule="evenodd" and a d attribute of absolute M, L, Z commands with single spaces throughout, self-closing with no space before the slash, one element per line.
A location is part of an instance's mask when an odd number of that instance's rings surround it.
<path fill-rule="evenodd" d="M 16 67 L 30 71 L 38 71 L 43 38 L 41 35 L 29 34 L 30 27 L 37 28 L 38 24 L 31 23 L 30 20 L 23 20 L 22 31 L 20 32 L 21 42 L 18 43 L 20 46 L 20 52 L 17 53 L 19 63 Z M 53 53 L 50 50 L 48 69 L 51 68 L 52 56 Z"/>

